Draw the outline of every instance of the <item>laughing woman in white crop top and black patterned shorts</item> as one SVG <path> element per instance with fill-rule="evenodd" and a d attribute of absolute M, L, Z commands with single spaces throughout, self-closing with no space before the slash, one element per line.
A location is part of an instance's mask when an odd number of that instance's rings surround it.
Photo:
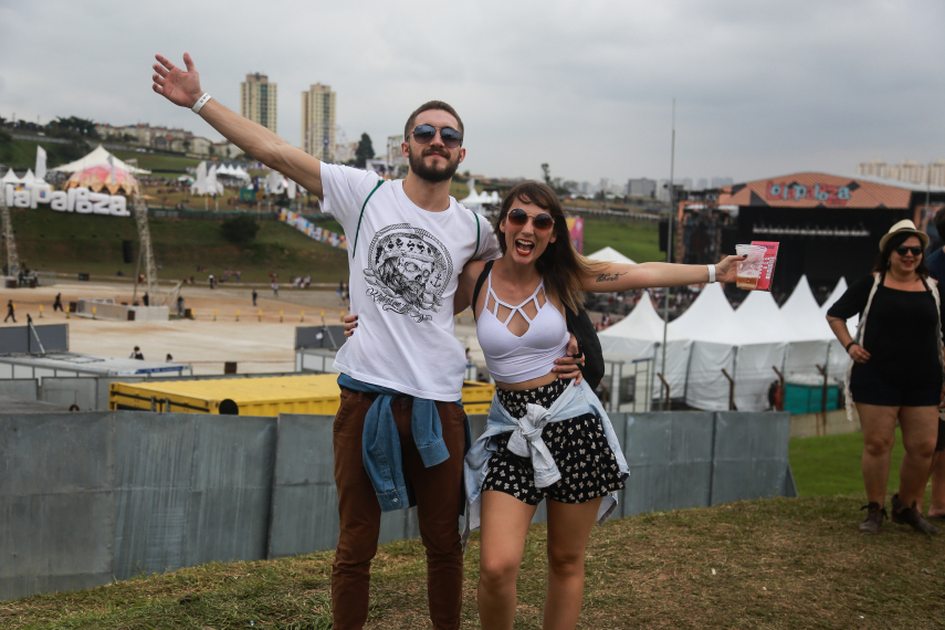
<path fill-rule="evenodd" d="M 612 512 L 627 463 L 588 385 L 549 374 L 568 342 L 564 307 L 579 308 L 586 291 L 734 282 L 739 259 L 717 265 L 589 261 L 575 250 L 555 192 L 535 181 L 505 197 L 495 235 L 503 256 L 494 261 L 473 314 L 496 396 L 486 431 L 465 462 L 466 528 L 482 527 L 480 619 L 486 629 L 512 628 L 528 525 L 547 497 L 544 627 L 574 628 L 590 529 Z M 460 276 L 458 313 L 486 264 L 472 262 Z"/>

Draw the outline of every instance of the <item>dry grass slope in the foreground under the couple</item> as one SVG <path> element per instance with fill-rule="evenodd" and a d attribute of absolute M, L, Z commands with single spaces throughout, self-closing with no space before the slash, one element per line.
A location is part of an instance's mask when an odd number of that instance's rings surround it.
<path fill-rule="evenodd" d="M 945 540 L 888 525 L 863 537 L 850 497 L 747 501 L 596 527 L 580 628 L 933 628 Z M 516 628 L 540 628 L 547 527 L 532 527 Z M 210 564 L 0 605 L 6 629 L 327 628 L 332 554 Z M 427 628 L 418 540 L 381 547 L 368 628 Z M 465 555 L 463 628 L 477 628 L 479 538 Z M 253 624 L 251 626 L 251 622 Z M 937 626 L 941 627 L 941 626 Z"/>

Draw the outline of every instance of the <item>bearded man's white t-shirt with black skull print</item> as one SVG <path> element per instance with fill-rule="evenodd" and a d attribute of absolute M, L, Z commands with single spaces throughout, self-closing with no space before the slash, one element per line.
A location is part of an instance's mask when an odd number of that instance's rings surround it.
<path fill-rule="evenodd" d="M 423 210 L 400 179 L 382 183 L 361 216 L 379 179 L 322 165 L 322 209 L 345 229 L 351 313 L 359 324 L 338 350 L 335 369 L 409 396 L 459 400 L 466 361 L 453 336 L 458 277 L 473 256 L 492 260 L 502 251 L 486 219 L 452 197 L 442 212 Z"/>

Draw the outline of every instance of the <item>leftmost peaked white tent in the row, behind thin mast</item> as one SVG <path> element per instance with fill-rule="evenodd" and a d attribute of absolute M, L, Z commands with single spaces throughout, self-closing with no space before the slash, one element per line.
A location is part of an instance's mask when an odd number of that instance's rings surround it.
<path fill-rule="evenodd" d="M 662 374 L 670 384 L 671 396 L 683 391 L 692 340 L 680 336 L 672 328 L 666 328 L 668 367 L 663 369 L 663 319 L 653 307 L 649 292 L 643 292 L 630 315 L 597 336 L 603 356 L 609 360 L 630 363 L 634 359 L 653 359 L 650 364 L 650 369 L 653 370 L 653 398 L 659 398 L 662 389 L 657 372 Z M 622 374 L 632 374 L 632 368 L 623 367 Z"/>

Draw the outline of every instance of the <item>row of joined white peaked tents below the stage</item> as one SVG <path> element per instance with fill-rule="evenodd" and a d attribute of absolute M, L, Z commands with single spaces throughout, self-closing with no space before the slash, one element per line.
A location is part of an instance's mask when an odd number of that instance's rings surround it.
<path fill-rule="evenodd" d="M 842 379 L 849 358 L 825 314 L 843 291 L 846 282 L 841 281 L 826 305 L 818 306 L 807 279 L 801 277 L 781 308 L 770 293 L 753 291 L 733 311 L 720 284 L 706 285 L 668 327 L 664 374 L 672 397 L 684 397 L 696 409 L 728 409 L 725 369 L 735 380 L 735 406 L 742 411 L 760 411 L 768 408 L 768 387 L 778 378 L 774 367 L 791 380 L 819 376 L 816 366 L 827 361 L 828 377 Z M 606 359 L 652 359 L 654 371 L 660 372 L 662 336 L 662 319 L 649 300 L 599 334 Z M 659 379 L 653 384 L 653 397 L 660 397 Z"/>

